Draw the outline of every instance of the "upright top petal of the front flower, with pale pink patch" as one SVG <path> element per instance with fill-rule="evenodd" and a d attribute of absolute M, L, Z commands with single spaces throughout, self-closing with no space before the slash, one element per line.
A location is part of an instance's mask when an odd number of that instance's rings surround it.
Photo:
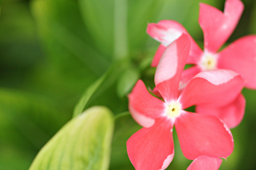
<path fill-rule="evenodd" d="M 190 50 L 190 40 L 185 34 L 167 46 L 155 73 L 155 84 L 163 99 L 177 99 L 180 75 Z"/>

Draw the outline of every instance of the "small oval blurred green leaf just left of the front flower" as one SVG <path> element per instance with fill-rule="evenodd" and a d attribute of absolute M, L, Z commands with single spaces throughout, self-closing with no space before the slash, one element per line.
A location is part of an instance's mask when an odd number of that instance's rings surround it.
<path fill-rule="evenodd" d="M 123 97 L 131 91 L 139 76 L 139 71 L 135 68 L 129 68 L 123 72 L 117 84 L 117 94 L 119 97 Z"/>

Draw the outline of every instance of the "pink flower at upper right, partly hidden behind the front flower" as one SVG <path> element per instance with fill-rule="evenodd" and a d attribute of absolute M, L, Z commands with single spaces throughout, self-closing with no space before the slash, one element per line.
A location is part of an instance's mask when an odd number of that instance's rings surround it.
<path fill-rule="evenodd" d="M 195 66 L 183 71 L 180 89 L 184 88 L 197 73 L 215 69 L 236 71 L 245 79 L 247 88 L 256 89 L 256 35 L 242 37 L 221 52 L 217 52 L 230 37 L 242 11 L 243 4 L 240 0 L 227 0 L 224 13 L 217 8 L 200 3 L 199 24 L 204 32 L 204 52 L 189 36 L 192 44 L 187 63 Z M 147 33 L 161 42 L 152 66 L 158 65 L 166 46 L 184 31 L 185 28 L 181 24 L 172 20 L 148 24 Z M 197 105 L 196 111 L 219 116 L 230 128 L 234 128 L 242 121 L 245 99 L 241 94 L 236 100 L 224 107 L 212 108 L 203 104 Z"/>

